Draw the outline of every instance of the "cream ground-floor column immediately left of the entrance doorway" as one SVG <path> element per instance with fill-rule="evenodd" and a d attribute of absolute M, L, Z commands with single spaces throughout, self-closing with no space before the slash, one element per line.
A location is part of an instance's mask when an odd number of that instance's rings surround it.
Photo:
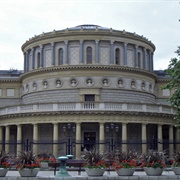
<path fill-rule="evenodd" d="M 76 159 L 81 159 L 81 123 L 76 123 Z"/>

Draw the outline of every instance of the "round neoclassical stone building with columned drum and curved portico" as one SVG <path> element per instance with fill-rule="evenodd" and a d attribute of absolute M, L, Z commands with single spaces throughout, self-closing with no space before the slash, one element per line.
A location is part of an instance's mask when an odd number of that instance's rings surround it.
<path fill-rule="evenodd" d="M 22 45 L 24 70 L 0 71 L 0 146 L 80 158 L 84 148 L 146 152 L 178 145 L 179 131 L 153 70 L 154 44 L 125 30 L 81 25 Z"/>

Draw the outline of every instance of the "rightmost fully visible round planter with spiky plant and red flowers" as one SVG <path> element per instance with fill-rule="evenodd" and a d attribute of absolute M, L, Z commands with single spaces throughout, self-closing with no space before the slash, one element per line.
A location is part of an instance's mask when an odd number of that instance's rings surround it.
<path fill-rule="evenodd" d="M 148 176 L 160 176 L 166 167 L 165 151 L 148 150 L 147 154 L 141 156 L 141 167 Z"/>

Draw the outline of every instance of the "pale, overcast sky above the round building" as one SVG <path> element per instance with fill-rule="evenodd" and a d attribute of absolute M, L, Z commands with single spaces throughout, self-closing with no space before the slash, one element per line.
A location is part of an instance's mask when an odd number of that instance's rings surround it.
<path fill-rule="evenodd" d="M 177 57 L 179 20 L 180 0 L 0 0 L 0 70 L 23 70 L 21 46 L 34 35 L 82 24 L 143 35 L 164 70 Z"/>

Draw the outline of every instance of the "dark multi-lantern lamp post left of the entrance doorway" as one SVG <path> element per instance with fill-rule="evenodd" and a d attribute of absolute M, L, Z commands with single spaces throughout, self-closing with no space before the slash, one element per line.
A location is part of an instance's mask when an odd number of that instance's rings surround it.
<path fill-rule="evenodd" d="M 68 122 L 67 127 L 63 126 L 63 132 L 64 134 L 67 133 L 68 137 L 68 154 L 71 154 L 71 134 L 74 134 L 76 131 L 75 125 L 72 125 L 70 122 Z"/>

